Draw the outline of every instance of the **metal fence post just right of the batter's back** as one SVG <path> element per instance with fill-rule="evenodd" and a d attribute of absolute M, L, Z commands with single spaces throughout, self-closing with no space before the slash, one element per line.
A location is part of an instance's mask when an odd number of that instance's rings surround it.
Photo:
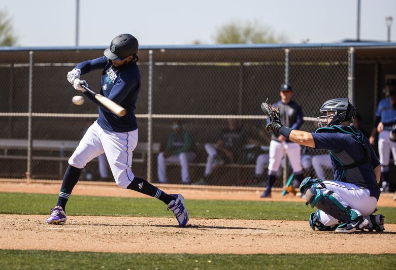
<path fill-rule="evenodd" d="M 147 118 L 147 181 L 151 182 L 151 153 L 152 153 L 152 110 L 153 110 L 153 51 L 149 50 L 149 66 L 148 66 L 148 118 Z"/>

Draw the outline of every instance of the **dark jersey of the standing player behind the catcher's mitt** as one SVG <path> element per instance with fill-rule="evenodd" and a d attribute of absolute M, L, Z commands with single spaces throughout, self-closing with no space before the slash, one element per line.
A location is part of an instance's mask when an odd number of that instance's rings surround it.
<path fill-rule="evenodd" d="M 300 129 L 303 124 L 303 109 L 296 102 L 291 100 L 288 104 L 282 103 L 282 100 L 279 100 L 277 103 L 273 105 L 275 108 L 278 108 L 280 115 L 280 122 L 284 126 L 288 126 L 291 129 Z M 267 118 L 267 123 L 270 120 Z M 271 136 L 271 140 L 278 141 L 279 133 L 274 133 Z M 287 142 L 290 142 L 287 140 Z"/>

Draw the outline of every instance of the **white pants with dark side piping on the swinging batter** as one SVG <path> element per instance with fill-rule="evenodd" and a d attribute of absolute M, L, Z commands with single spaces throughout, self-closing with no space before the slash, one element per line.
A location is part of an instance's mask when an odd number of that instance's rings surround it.
<path fill-rule="evenodd" d="M 138 129 L 113 132 L 102 129 L 96 121 L 85 132 L 69 158 L 69 164 L 83 168 L 93 158 L 106 153 L 117 186 L 126 188 L 135 178 L 131 171 L 132 152 L 138 144 Z"/>

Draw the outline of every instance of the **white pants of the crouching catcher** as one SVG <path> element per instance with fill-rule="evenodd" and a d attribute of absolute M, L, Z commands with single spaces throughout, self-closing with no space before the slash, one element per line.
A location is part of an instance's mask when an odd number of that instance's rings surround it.
<path fill-rule="evenodd" d="M 358 187 L 354 184 L 339 181 L 323 181 L 325 189 L 331 190 L 340 204 L 344 207 L 350 206 L 357 214 L 364 217 L 371 215 L 377 207 L 377 199 L 370 196 L 370 190 Z M 326 226 L 338 224 L 334 217 L 320 211 L 319 221 Z"/>

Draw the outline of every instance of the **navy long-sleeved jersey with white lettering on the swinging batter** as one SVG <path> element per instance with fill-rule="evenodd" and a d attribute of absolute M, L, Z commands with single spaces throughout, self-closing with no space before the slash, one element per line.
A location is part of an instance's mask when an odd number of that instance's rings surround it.
<path fill-rule="evenodd" d="M 106 56 L 79 63 L 76 69 L 81 70 L 81 75 L 90 71 L 103 69 L 101 77 L 101 94 L 113 100 L 126 110 L 126 114 L 118 117 L 109 109 L 100 104 L 94 97 L 85 94 L 99 106 L 97 123 L 106 130 L 115 132 L 128 132 L 138 128 L 135 109 L 138 99 L 141 76 L 136 62 L 121 70 L 115 70 Z"/>

